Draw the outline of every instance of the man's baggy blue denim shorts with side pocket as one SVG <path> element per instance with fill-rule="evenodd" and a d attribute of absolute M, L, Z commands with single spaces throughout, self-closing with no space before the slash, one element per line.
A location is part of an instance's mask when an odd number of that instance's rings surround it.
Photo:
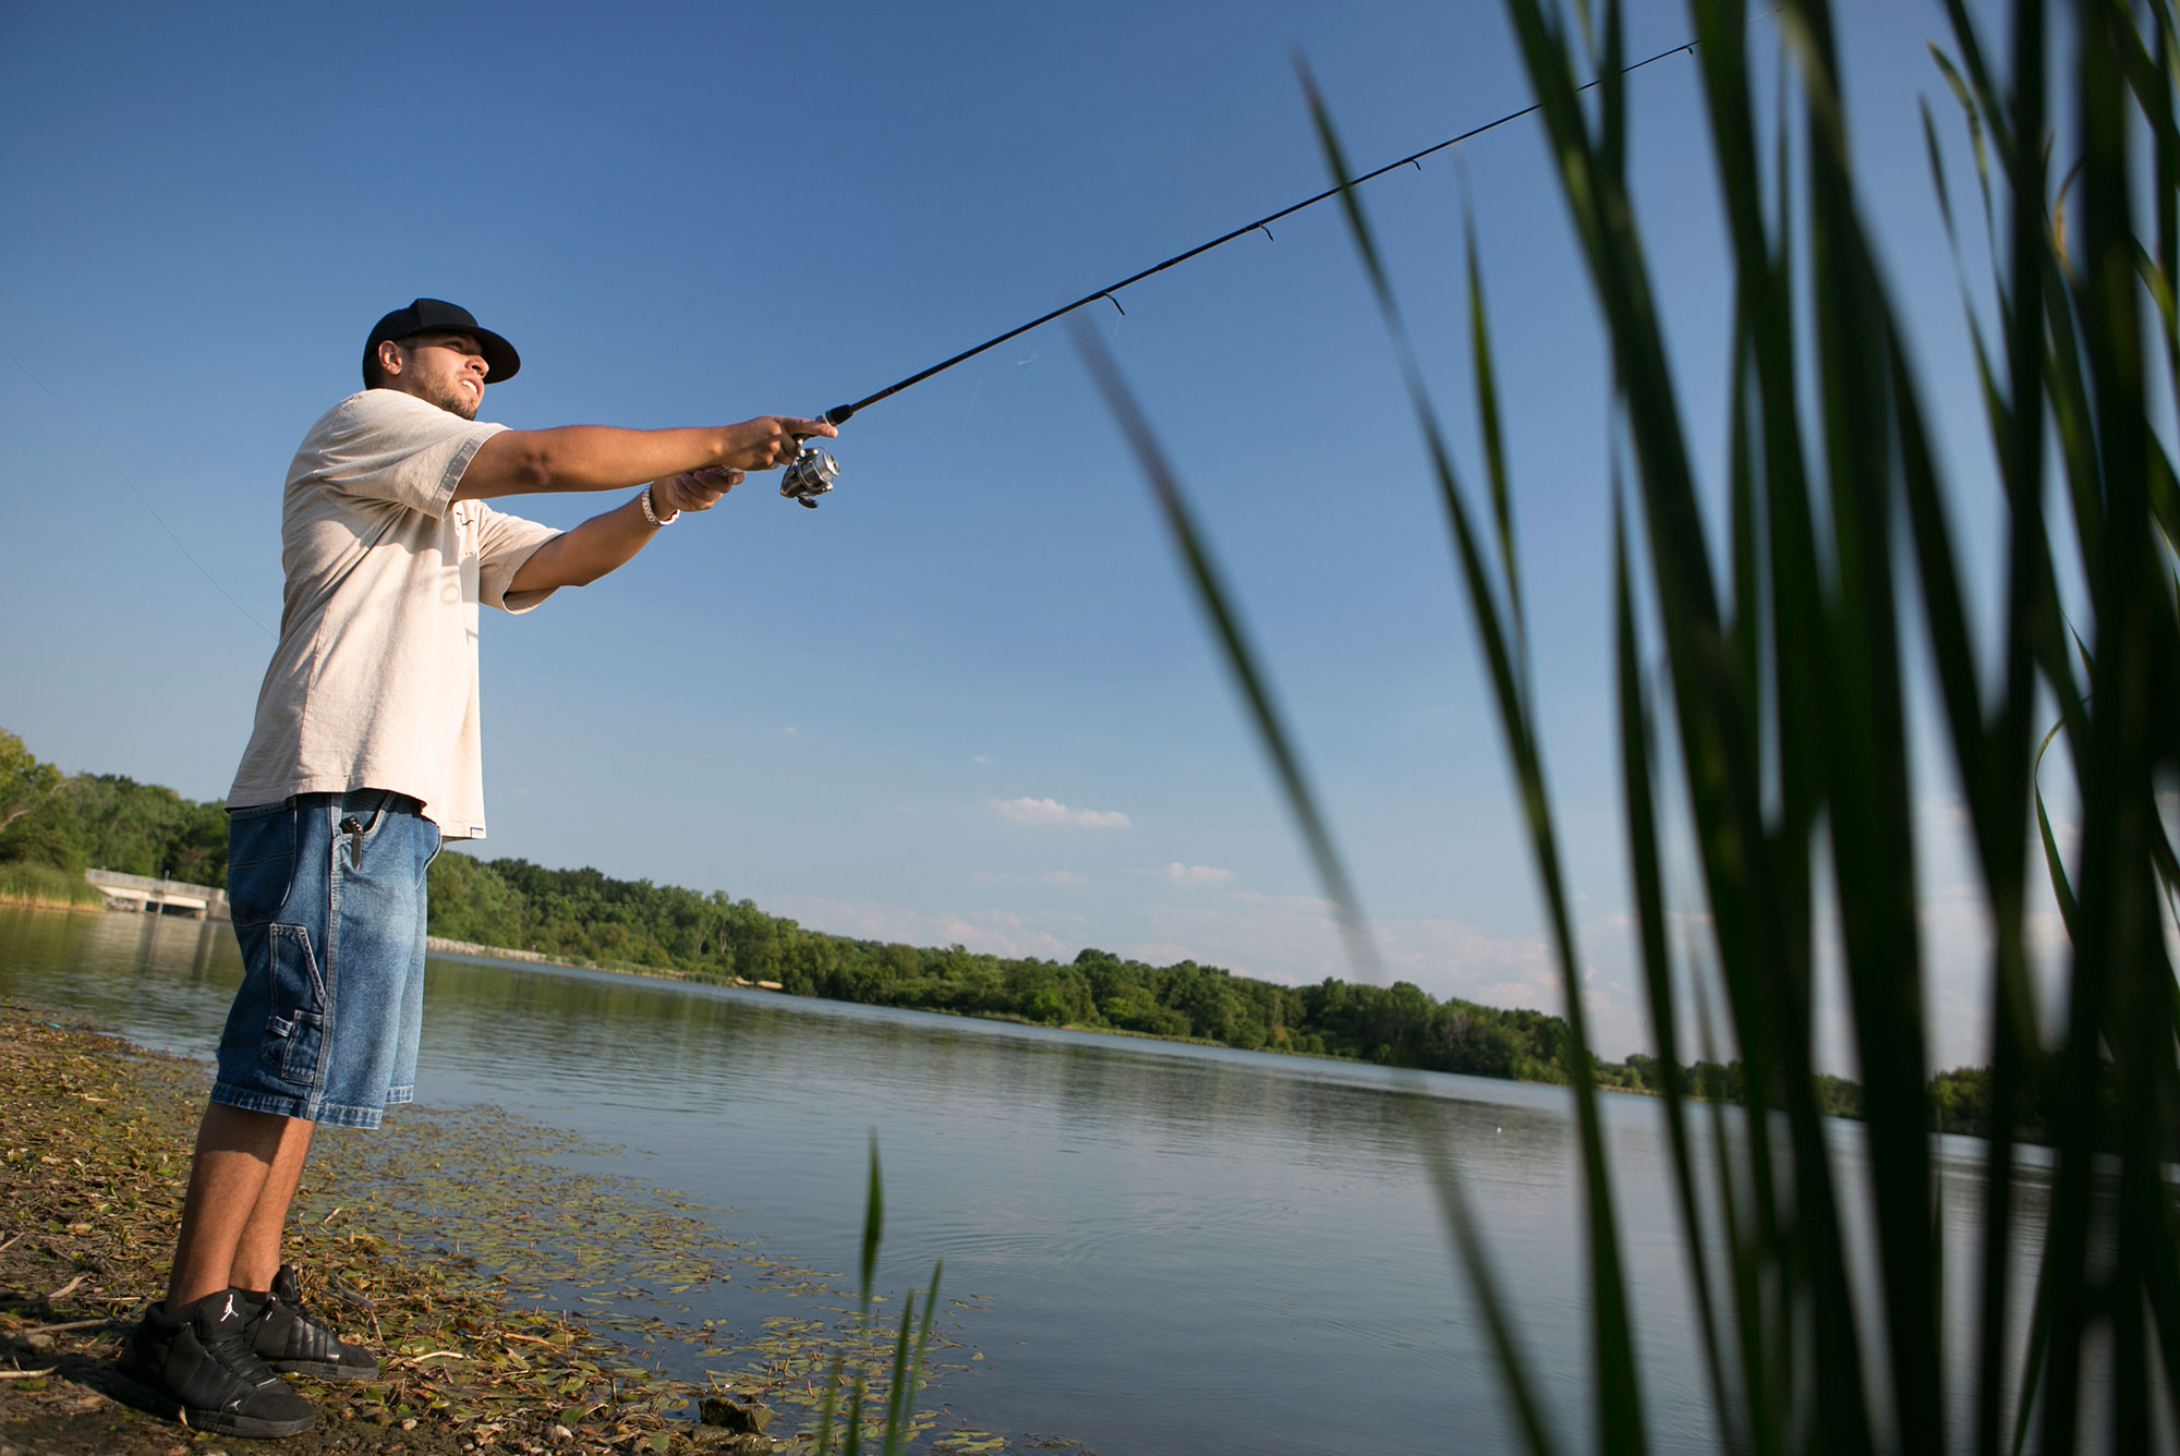
<path fill-rule="evenodd" d="M 377 1127 L 416 1085 L 425 867 L 438 826 L 379 789 L 227 815 L 242 987 L 211 1101 Z"/>

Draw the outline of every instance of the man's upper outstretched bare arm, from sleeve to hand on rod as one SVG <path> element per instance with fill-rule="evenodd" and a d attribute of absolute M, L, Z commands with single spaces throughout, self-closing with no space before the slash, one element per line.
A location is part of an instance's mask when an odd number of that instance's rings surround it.
<path fill-rule="evenodd" d="M 713 429 L 613 429 L 610 425 L 562 425 L 560 429 L 501 429 L 477 447 L 458 501 L 488 501 L 501 495 L 547 490 L 626 490 L 647 480 L 685 471 L 770 471 L 802 449 L 800 436 L 839 434 L 824 421 L 791 414 L 761 414 L 741 425 Z M 637 514 L 641 525 L 641 510 Z M 573 532 L 569 532 L 573 534 Z"/>

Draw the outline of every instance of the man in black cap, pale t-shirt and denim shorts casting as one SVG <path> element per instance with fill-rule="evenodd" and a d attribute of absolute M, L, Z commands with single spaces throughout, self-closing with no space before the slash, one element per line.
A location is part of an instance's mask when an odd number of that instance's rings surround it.
<path fill-rule="evenodd" d="M 371 329 L 364 388 L 288 466 L 279 645 L 229 804 L 244 979 L 220 1038 L 166 1299 L 122 1375 L 198 1430 L 286 1436 L 314 1412 L 277 1371 L 368 1380 L 377 1360 L 301 1303 L 281 1229 L 316 1123 L 405 1103 L 423 1011 L 425 867 L 484 835 L 477 606 L 528 612 L 634 558 L 824 421 L 713 429 L 475 423 L 514 347 L 416 299 Z M 650 484 L 645 484 L 650 482 Z M 571 532 L 486 501 L 639 495 Z"/>

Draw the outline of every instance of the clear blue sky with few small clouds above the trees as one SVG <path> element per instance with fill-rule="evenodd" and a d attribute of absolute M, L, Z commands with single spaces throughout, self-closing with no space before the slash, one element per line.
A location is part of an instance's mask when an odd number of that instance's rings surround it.
<path fill-rule="evenodd" d="M 1840 7 L 1860 183 L 1988 558 L 1979 405 L 1916 98 L 1936 4 Z M 1631 52 L 1687 37 L 1631 7 Z M 1770 74 L 1775 31 L 1755 28 Z M 371 320 L 517 342 L 482 418 L 818 412 L 1526 105 L 1495 2 L 0 7 L 0 726 L 225 793 L 279 617 L 279 482 Z M 1694 68 L 1631 87 L 1690 423 L 1727 270 Z M 1609 739 L 1607 379 L 1541 131 L 1373 183 L 1456 440 L 1463 187 L 1500 344 L 1552 789 L 1600 1042 L 1639 1048 Z M 1336 209 L 1094 325 L 1201 508 L 1395 974 L 1557 1005 L 1504 759 L 1391 351 Z M 1971 259 L 1973 266 L 1973 259 Z M 1938 384 L 1942 381 L 1942 384 Z M 857 935 L 1347 974 L 1286 813 L 1059 327 L 855 418 L 523 619 L 486 615 L 486 854 Z M 514 503 L 573 523 L 621 497 Z M 161 519 L 166 525 L 161 525 Z M 1988 584 L 1986 584 L 1988 586 Z M 227 599 L 231 597 L 231 602 Z M 1925 780 L 1938 1051 L 1979 1053 L 1975 911 Z"/>

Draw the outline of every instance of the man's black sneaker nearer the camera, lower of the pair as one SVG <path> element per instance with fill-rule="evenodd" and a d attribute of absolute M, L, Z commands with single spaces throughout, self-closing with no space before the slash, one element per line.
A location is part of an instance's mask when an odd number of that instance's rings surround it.
<path fill-rule="evenodd" d="M 318 1412 L 266 1369 L 244 1330 L 242 1290 L 207 1295 L 183 1314 L 155 1303 L 122 1340 L 116 1367 L 140 1404 L 225 1436 L 292 1436 Z"/>

